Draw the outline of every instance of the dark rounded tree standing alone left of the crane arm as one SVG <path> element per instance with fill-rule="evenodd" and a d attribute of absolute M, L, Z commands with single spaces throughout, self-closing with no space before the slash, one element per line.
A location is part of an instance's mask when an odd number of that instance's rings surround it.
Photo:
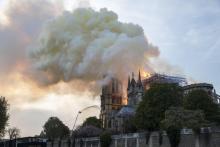
<path fill-rule="evenodd" d="M 43 126 L 45 137 L 49 139 L 62 139 L 70 134 L 69 128 L 57 117 L 50 117 Z"/>

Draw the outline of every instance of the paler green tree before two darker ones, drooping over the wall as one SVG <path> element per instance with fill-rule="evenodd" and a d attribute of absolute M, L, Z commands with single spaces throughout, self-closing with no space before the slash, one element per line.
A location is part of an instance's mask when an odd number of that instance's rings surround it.
<path fill-rule="evenodd" d="M 181 107 L 171 107 L 166 110 L 165 119 L 161 124 L 167 132 L 171 147 L 178 147 L 182 128 L 192 128 L 198 132 L 206 123 L 204 114 L 200 110 L 192 111 Z"/>

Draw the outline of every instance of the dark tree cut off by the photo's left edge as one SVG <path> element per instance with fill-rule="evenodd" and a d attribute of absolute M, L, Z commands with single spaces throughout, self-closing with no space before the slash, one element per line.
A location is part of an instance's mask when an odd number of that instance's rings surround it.
<path fill-rule="evenodd" d="M 5 98 L 0 97 L 0 138 L 5 134 L 5 127 L 9 119 L 8 106 L 8 102 Z"/>

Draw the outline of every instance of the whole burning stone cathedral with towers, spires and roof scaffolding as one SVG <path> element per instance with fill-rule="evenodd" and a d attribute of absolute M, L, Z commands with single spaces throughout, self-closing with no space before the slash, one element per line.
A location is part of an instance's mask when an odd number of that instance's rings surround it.
<path fill-rule="evenodd" d="M 212 96 L 214 102 L 220 104 L 220 96 L 216 94 L 212 84 L 197 83 L 188 85 L 185 78 L 157 73 L 149 78 L 141 79 L 139 71 L 137 79 L 135 79 L 134 73 L 132 73 L 131 78 L 128 77 L 127 98 L 123 97 L 123 85 L 117 78 L 111 78 L 110 82 L 102 87 L 100 113 L 102 127 L 123 132 L 122 125 L 124 121 L 135 115 L 136 108 L 142 100 L 144 92 L 150 88 L 152 83 L 176 83 L 183 87 L 185 94 L 194 89 L 203 89 Z M 124 103 L 125 99 L 127 100 L 126 104 Z"/>

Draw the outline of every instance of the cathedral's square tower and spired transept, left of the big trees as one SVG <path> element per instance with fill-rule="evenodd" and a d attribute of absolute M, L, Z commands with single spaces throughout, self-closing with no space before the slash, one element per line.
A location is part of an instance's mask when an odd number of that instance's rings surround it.
<path fill-rule="evenodd" d="M 124 119 L 135 114 L 135 109 L 144 94 L 140 72 L 137 80 L 134 73 L 131 78 L 128 77 L 127 104 L 123 103 L 125 98 L 122 88 L 122 83 L 117 78 L 112 78 L 102 87 L 100 119 L 103 128 L 120 131 Z"/>

